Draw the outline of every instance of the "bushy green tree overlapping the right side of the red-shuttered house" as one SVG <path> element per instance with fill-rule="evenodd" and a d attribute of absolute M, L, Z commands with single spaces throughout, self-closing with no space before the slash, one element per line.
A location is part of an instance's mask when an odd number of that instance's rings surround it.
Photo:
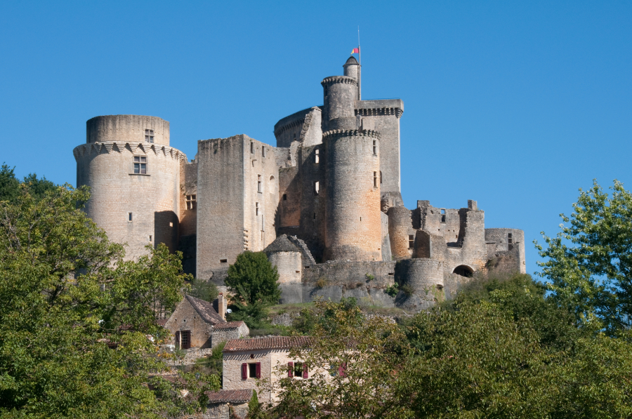
<path fill-rule="evenodd" d="M 309 378 L 289 378 L 287 365 L 278 366 L 270 390 L 278 392 L 279 404 L 269 411 L 286 418 L 412 418 L 398 395 L 405 387 L 402 366 L 412 354 L 400 328 L 364 317 L 348 301 L 317 302 L 316 312 L 328 321 L 315 325 L 308 345 L 290 351 L 307 365 Z"/>

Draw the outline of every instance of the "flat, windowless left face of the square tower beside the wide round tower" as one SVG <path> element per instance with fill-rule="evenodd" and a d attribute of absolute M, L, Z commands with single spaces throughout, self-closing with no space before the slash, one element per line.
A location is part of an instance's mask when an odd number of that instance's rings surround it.
<path fill-rule="evenodd" d="M 213 270 L 228 269 L 248 243 L 244 232 L 246 138 L 235 135 L 197 142 L 197 278 L 209 279 Z"/>

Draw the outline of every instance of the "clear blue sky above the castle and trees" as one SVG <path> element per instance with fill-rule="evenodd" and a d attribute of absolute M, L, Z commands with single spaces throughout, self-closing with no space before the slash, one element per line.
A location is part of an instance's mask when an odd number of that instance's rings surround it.
<path fill-rule="evenodd" d="M 593 178 L 632 187 L 631 1 L 0 2 L 0 163 L 76 182 L 86 120 L 197 140 L 322 104 L 362 41 L 362 97 L 402 98 L 402 194 L 555 234 Z"/>

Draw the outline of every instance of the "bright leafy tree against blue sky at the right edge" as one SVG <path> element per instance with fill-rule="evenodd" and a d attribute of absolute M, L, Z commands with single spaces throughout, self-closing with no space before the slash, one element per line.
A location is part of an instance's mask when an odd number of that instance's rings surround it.
<path fill-rule="evenodd" d="M 614 180 L 612 197 L 593 181 L 579 189 L 570 217 L 560 214 L 561 232 L 544 235 L 546 258 L 538 262 L 548 289 L 559 305 L 577 315 L 577 321 L 607 333 L 632 326 L 632 194 Z"/>

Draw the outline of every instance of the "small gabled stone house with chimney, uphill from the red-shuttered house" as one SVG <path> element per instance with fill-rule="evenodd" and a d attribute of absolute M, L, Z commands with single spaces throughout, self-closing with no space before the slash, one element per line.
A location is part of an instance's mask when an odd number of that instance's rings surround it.
<path fill-rule="evenodd" d="M 226 300 L 221 293 L 213 304 L 185 295 L 164 327 L 169 329 L 173 343 L 181 349 L 210 348 L 224 340 L 248 336 L 250 331 L 243 321 L 226 321 L 225 307 Z"/>

